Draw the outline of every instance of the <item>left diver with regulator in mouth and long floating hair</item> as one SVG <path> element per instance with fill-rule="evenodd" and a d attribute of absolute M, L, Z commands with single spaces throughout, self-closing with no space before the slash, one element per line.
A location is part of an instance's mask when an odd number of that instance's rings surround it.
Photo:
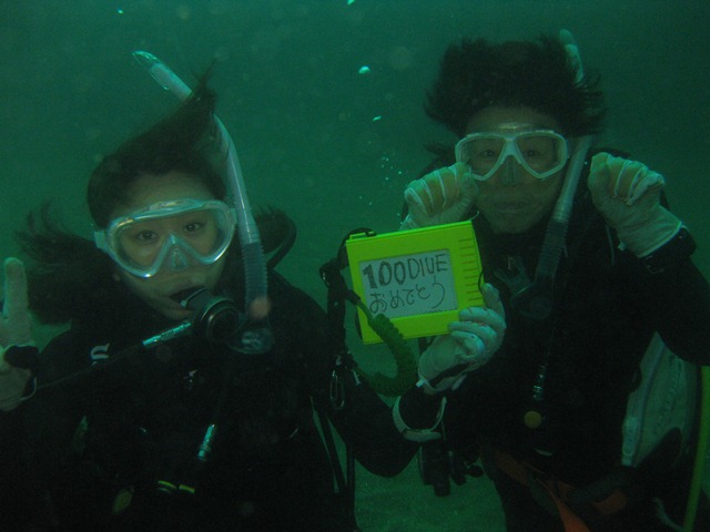
<path fill-rule="evenodd" d="M 91 174 L 95 244 L 44 208 L 19 234 L 27 274 L 6 262 L 3 531 L 353 531 L 329 422 L 348 470 L 393 475 L 416 452 L 274 269 L 295 235 L 282 212 L 255 216 L 265 274 L 247 286 L 233 144 L 206 76 L 184 95 Z M 28 308 L 68 326 L 41 356 Z"/>

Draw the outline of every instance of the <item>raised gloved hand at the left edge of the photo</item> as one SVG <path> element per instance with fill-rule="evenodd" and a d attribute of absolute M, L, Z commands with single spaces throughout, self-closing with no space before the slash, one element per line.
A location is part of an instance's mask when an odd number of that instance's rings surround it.
<path fill-rule="evenodd" d="M 24 265 L 17 258 L 4 262 L 4 303 L 0 316 L 0 410 L 9 411 L 22 402 L 32 378 L 37 348 L 27 296 Z"/>

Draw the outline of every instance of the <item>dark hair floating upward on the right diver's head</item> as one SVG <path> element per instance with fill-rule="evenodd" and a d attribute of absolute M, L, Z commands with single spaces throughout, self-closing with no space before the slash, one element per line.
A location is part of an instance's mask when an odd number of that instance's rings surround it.
<path fill-rule="evenodd" d="M 557 39 L 490 44 L 465 38 L 444 53 L 424 108 L 458 137 L 474 114 L 491 105 L 535 109 L 554 116 L 567 136 L 596 133 L 605 114 L 599 80 L 585 76 L 577 83 L 575 76 Z"/>

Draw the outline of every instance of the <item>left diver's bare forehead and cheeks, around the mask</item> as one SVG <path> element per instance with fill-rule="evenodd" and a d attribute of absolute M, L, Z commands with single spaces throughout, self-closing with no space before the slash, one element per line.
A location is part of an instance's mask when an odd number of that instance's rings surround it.
<path fill-rule="evenodd" d="M 118 206 L 111 218 L 135 213 L 158 202 L 181 198 L 214 200 L 214 196 L 190 174 L 169 172 L 161 175 L 143 175 L 133 183 L 128 204 Z M 170 231 L 178 229 L 170 227 Z M 116 265 L 115 277 L 163 316 L 186 319 L 192 311 L 180 306 L 171 296 L 197 286 L 214 289 L 223 269 L 224 256 L 213 264 L 191 264 L 180 272 L 163 267 L 148 278 L 136 277 Z"/>

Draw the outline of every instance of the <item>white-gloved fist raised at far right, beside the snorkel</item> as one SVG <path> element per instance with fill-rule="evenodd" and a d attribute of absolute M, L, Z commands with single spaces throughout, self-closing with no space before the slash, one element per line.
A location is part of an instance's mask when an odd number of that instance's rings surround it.
<path fill-rule="evenodd" d="M 617 229 L 621 245 L 645 257 L 678 234 L 682 223 L 660 204 L 666 181 L 636 161 L 598 153 L 588 185 L 597 209 Z"/>

